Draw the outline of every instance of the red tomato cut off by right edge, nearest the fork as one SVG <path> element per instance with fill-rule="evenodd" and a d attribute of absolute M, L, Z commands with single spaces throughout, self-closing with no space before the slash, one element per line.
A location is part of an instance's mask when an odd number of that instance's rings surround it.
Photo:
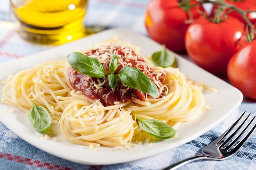
<path fill-rule="evenodd" d="M 246 44 L 230 59 L 227 75 L 231 84 L 245 96 L 256 99 L 256 40 Z"/>

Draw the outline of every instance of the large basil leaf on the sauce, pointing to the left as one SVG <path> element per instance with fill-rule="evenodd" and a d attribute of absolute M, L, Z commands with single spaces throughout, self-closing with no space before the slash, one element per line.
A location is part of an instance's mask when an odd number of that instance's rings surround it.
<path fill-rule="evenodd" d="M 99 60 L 82 53 L 70 53 L 67 55 L 67 61 L 76 71 L 84 75 L 96 78 L 103 78 L 107 75 Z"/>

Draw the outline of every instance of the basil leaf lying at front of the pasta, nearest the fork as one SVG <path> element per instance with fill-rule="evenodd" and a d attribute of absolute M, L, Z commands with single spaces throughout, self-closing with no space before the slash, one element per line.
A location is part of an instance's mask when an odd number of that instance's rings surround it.
<path fill-rule="evenodd" d="M 143 120 L 137 115 L 135 115 L 135 117 L 139 120 L 139 127 L 153 137 L 169 139 L 176 134 L 176 130 L 163 121 L 156 119 Z"/>

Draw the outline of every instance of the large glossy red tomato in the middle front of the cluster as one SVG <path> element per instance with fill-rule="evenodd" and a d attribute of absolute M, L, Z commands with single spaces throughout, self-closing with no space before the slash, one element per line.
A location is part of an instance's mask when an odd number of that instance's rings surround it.
<path fill-rule="evenodd" d="M 186 50 L 198 66 L 216 74 L 227 73 L 229 59 L 244 45 L 244 25 L 228 17 L 221 23 L 209 22 L 201 17 L 186 31 Z"/>

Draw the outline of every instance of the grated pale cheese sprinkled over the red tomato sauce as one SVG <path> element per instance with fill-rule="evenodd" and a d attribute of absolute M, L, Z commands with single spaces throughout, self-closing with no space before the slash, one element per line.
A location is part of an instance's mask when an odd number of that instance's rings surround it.
<path fill-rule="evenodd" d="M 163 87 L 162 84 L 162 79 L 164 78 L 164 75 L 166 75 L 166 72 L 164 71 L 163 68 L 157 68 L 157 69 L 153 69 L 151 68 L 151 64 L 147 63 L 146 59 L 144 59 L 143 57 L 141 57 L 141 55 L 139 55 L 139 51 L 137 51 L 138 49 L 135 48 L 135 46 L 129 46 L 130 44 L 128 43 L 124 43 L 124 42 L 120 42 L 119 40 L 116 41 L 111 41 L 111 42 L 104 42 L 102 44 L 96 45 L 96 46 L 92 46 L 90 47 L 90 49 L 87 49 L 85 51 L 83 51 L 82 53 L 88 55 L 88 57 L 93 57 L 93 58 L 97 58 L 97 60 L 99 60 L 99 62 L 101 62 L 101 64 L 103 64 L 103 66 L 105 68 L 108 67 L 109 63 L 110 63 L 110 59 L 112 57 L 112 55 L 117 55 L 119 61 L 118 61 L 118 65 L 121 67 L 124 66 L 135 66 L 142 71 L 143 73 L 145 73 L 146 75 L 148 75 L 148 77 L 150 77 L 150 79 L 155 83 L 155 85 L 157 86 L 158 90 L 159 90 L 159 94 L 164 94 L 167 95 L 168 94 L 168 87 Z M 121 51 L 121 54 L 120 54 Z M 134 63 L 135 62 L 135 63 Z M 134 63 L 134 64 L 133 64 Z M 172 71 L 174 73 L 177 73 L 178 69 L 173 68 Z M 178 73 L 177 73 L 178 75 Z M 88 80 L 90 79 L 89 76 L 85 76 L 85 79 Z M 103 82 L 101 81 L 101 79 L 97 79 L 97 81 L 92 81 L 91 79 L 90 81 L 90 87 L 94 89 L 94 91 L 96 93 L 98 93 L 99 91 L 102 90 L 103 85 L 106 83 L 106 81 L 104 80 Z M 166 90 L 165 90 L 166 89 Z M 125 102 L 124 99 L 124 95 L 126 94 L 126 91 L 129 90 L 128 86 L 123 85 L 120 89 L 121 92 L 121 101 Z M 112 89 L 112 91 L 115 91 L 114 89 Z M 109 95 L 111 95 L 111 92 L 107 93 L 106 95 L 104 94 L 104 98 L 103 100 L 105 100 L 106 105 L 108 106 L 108 99 L 109 99 Z M 147 94 L 142 94 L 144 95 L 146 98 L 148 98 Z M 152 97 L 150 97 L 152 98 Z M 114 104 L 116 104 L 116 102 L 114 102 Z M 94 109 L 94 108 L 92 108 Z M 90 109 L 91 110 L 91 109 Z"/>

